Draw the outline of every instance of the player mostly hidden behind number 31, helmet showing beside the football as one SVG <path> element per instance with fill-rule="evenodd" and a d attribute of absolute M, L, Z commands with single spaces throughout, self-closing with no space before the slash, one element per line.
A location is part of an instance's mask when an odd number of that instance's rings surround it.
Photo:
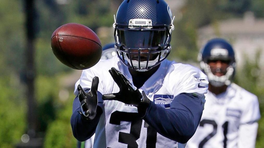
<path fill-rule="evenodd" d="M 116 49 L 115 49 L 115 43 L 109 43 L 103 46 L 102 48 L 102 57 L 101 60 L 107 60 L 111 59 L 112 57 L 117 56 Z M 79 80 L 76 84 L 79 84 Z M 93 148 L 93 141 L 95 139 L 95 134 L 93 136 L 83 142 L 78 141 L 77 142 L 77 148 Z"/>

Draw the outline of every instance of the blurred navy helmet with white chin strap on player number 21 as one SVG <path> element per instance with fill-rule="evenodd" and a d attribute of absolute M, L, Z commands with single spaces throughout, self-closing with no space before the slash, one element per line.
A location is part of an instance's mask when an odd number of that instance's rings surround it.
<path fill-rule="evenodd" d="M 216 87 L 230 85 L 230 80 L 234 76 L 236 64 L 234 50 L 226 40 L 221 38 L 209 40 L 201 49 L 198 60 L 200 61 L 201 69 L 208 76 L 210 84 Z M 214 75 L 208 65 L 210 60 L 228 61 L 229 67 L 226 69 L 226 74 L 223 76 Z"/>

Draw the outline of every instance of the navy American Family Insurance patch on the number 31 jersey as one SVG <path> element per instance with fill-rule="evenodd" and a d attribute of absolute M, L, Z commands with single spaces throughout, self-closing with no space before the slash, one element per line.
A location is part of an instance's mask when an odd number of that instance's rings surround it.
<path fill-rule="evenodd" d="M 173 95 L 154 95 L 153 102 L 164 108 L 170 108 L 173 101 Z"/>

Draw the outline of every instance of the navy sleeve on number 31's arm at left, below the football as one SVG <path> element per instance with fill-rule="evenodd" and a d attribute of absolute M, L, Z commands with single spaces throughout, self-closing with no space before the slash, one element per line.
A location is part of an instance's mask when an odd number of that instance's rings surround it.
<path fill-rule="evenodd" d="M 89 90 L 86 90 L 88 92 Z M 81 112 L 80 102 L 78 96 L 73 101 L 72 116 L 70 118 L 70 124 L 72 126 L 73 136 L 79 141 L 85 141 L 89 139 L 94 133 L 96 126 L 100 120 L 102 114 L 102 94 L 97 92 L 98 106 L 96 117 L 93 120 L 87 120 L 79 113 Z"/>

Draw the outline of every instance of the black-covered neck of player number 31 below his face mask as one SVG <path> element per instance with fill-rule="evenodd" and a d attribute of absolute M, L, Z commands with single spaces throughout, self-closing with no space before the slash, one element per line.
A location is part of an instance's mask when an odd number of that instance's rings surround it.
<path fill-rule="evenodd" d="M 145 81 L 147 81 L 149 77 L 152 76 L 158 70 L 159 66 L 160 64 L 149 69 L 146 72 L 139 72 L 129 68 L 129 72 L 132 76 L 134 86 L 136 86 L 136 88 L 141 88 L 144 85 Z"/>

